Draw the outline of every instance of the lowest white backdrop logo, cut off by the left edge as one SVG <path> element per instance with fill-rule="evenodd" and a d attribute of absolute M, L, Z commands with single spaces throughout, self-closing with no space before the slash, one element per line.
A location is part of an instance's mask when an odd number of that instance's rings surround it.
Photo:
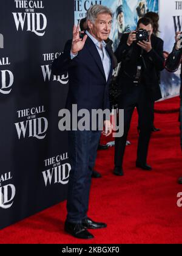
<path fill-rule="evenodd" d="M 16 189 L 13 184 L 5 184 L 13 178 L 11 172 L 0 175 L 0 208 L 8 209 L 13 205 Z"/>

